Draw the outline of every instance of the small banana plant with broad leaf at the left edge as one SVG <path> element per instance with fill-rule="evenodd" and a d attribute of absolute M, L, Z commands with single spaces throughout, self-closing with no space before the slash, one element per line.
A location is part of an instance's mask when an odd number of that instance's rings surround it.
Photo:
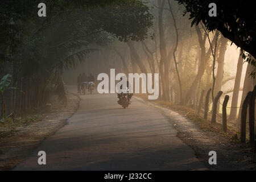
<path fill-rule="evenodd" d="M 0 122 L 5 121 L 5 115 L 6 115 L 6 105 L 5 105 L 5 97 L 4 93 L 6 90 L 19 90 L 15 87 L 10 87 L 12 76 L 8 73 L 7 75 L 3 76 L 0 81 L 0 94 L 1 94 L 1 119 Z"/>

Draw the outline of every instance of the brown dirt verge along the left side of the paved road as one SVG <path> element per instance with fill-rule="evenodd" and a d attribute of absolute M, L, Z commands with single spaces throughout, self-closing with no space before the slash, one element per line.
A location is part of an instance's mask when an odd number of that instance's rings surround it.
<path fill-rule="evenodd" d="M 77 111 L 80 97 L 68 93 L 67 105 L 53 105 L 49 113 L 40 114 L 40 120 L 28 126 L 19 127 L 17 132 L 0 140 L 0 170 L 11 170 L 16 164 L 26 159 L 36 147 L 47 137 L 53 135 L 67 124 Z"/>

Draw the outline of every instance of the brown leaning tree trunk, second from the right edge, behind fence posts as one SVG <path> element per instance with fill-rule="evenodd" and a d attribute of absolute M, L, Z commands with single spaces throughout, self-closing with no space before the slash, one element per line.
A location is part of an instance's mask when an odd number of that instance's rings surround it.
<path fill-rule="evenodd" d="M 241 50 L 240 50 L 240 53 L 241 53 Z M 243 58 L 242 58 L 242 56 L 239 56 L 238 63 L 237 63 L 237 73 L 236 73 L 236 80 L 234 82 L 234 90 L 233 90 L 229 119 L 236 119 L 236 117 L 237 117 L 237 108 L 236 107 L 238 104 L 238 95 L 239 95 L 239 90 L 240 90 L 242 69 L 243 69 Z"/>

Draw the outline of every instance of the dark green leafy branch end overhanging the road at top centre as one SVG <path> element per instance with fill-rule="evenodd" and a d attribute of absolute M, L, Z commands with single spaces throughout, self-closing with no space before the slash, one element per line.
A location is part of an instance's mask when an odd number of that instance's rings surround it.
<path fill-rule="evenodd" d="M 123 1 L 119 5 L 92 10 L 90 15 L 98 20 L 94 23 L 124 42 L 129 39 L 134 41 L 146 39 L 153 19 L 143 1 Z"/>

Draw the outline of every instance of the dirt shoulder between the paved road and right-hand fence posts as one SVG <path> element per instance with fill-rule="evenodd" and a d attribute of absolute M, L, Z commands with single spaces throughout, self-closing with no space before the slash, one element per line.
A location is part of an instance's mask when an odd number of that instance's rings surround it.
<path fill-rule="evenodd" d="M 148 102 L 135 97 L 144 104 L 154 106 L 165 115 L 171 125 L 178 131 L 177 137 L 183 140 L 195 151 L 196 157 L 205 164 L 209 170 L 252 170 L 256 169 L 256 156 L 251 148 L 234 142 L 229 135 L 216 133 L 201 128 L 181 115 L 162 105 Z M 209 151 L 216 151 L 217 165 L 209 165 Z"/>

